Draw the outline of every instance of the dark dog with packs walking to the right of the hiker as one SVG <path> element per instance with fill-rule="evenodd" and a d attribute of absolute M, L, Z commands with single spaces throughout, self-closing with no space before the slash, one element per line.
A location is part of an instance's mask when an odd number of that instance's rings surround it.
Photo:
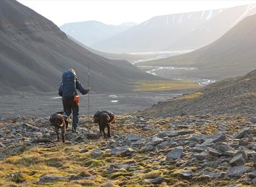
<path fill-rule="evenodd" d="M 104 138 L 106 138 L 105 128 L 108 128 L 108 138 L 111 137 L 110 135 L 110 125 L 111 123 L 116 123 L 116 117 L 112 112 L 108 111 L 98 111 L 94 115 L 94 122 L 98 123 L 98 127 L 100 129 L 100 136 L 102 136 L 102 133 L 104 135 Z"/>

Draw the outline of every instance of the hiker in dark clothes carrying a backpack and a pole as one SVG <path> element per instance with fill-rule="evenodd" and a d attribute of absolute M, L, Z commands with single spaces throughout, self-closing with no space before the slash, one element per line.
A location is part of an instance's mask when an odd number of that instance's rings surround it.
<path fill-rule="evenodd" d="M 62 96 L 64 114 L 67 116 L 70 116 L 71 112 L 73 114 L 73 133 L 78 133 L 76 131 L 79 115 L 79 96 L 77 94 L 77 90 L 81 94 L 87 94 L 90 91 L 90 89 L 84 89 L 83 86 L 79 83 L 75 70 L 70 69 L 65 71 L 62 74 L 62 82 L 60 83 L 58 94 Z"/>

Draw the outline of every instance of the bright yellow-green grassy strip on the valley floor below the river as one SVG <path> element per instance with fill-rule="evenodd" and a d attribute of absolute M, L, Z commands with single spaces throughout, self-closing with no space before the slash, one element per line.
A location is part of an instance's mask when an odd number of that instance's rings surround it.
<path fill-rule="evenodd" d="M 167 80 L 167 81 L 137 81 L 135 82 L 137 92 L 154 92 L 154 91 L 174 91 L 174 90 L 188 90 L 200 89 L 202 86 L 194 81 L 181 80 Z"/>

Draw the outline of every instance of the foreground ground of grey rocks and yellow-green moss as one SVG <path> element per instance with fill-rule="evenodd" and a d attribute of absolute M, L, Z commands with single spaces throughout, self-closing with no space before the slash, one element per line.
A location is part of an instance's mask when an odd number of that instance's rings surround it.
<path fill-rule="evenodd" d="M 1 186 L 255 186 L 256 119 L 117 116 L 112 138 L 82 116 L 56 142 L 46 118 L 0 119 Z"/>

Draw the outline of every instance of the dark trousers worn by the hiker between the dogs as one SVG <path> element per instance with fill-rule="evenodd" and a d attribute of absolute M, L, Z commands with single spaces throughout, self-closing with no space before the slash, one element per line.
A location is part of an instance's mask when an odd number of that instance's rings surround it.
<path fill-rule="evenodd" d="M 62 100 L 62 104 L 65 115 L 70 116 L 71 113 L 73 114 L 72 127 L 76 129 L 78 124 L 79 106 L 75 104 L 73 97 Z"/>

